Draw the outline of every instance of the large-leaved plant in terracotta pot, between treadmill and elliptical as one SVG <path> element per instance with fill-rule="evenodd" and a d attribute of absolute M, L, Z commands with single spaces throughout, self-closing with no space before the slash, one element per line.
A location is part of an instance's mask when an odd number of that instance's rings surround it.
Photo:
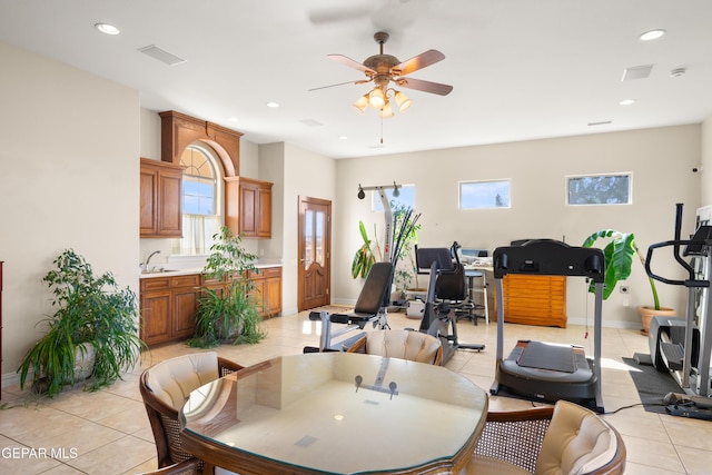
<path fill-rule="evenodd" d="M 603 229 L 589 236 L 583 243 L 583 247 L 592 247 L 597 239 L 610 239 L 603 248 L 605 259 L 605 283 L 603 285 L 603 299 L 607 299 L 613 293 L 619 280 L 625 280 L 631 275 L 633 258 L 637 255 L 643 268 L 645 268 L 645 258 L 640 253 L 635 244 L 635 235 L 633 232 L 621 232 L 614 229 Z M 643 321 L 641 333 L 647 335 L 650 330 L 650 320 L 654 315 L 674 315 L 675 310 L 660 306 L 655 280 L 647 277 L 651 290 L 653 293 L 653 305 L 639 307 L 639 313 Z M 593 283 L 589 287 L 589 291 L 593 291 Z"/>

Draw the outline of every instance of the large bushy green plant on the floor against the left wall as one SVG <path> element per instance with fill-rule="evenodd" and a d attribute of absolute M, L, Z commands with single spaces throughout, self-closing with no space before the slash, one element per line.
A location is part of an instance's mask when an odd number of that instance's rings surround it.
<path fill-rule="evenodd" d="M 18 368 L 20 387 L 30 369 L 33 387 L 49 397 L 88 375 L 89 390 L 110 385 L 136 364 L 144 347 L 138 337 L 136 294 L 119 288 L 111 273 L 95 276 L 91 265 L 72 249 L 62 251 L 53 265 L 56 269 L 42 281 L 53 295 L 56 310 L 42 320 L 48 333 Z M 86 373 L 77 373 L 82 367 Z"/>

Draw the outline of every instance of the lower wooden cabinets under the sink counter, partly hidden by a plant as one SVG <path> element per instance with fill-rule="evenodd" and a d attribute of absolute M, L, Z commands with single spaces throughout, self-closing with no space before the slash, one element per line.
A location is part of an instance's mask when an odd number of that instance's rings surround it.
<path fill-rule="evenodd" d="M 255 291 L 263 305 L 263 317 L 281 311 L 281 267 L 266 267 L 250 273 Z M 227 284 L 207 279 L 201 274 L 148 277 L 140 280 L 141 339 L 147 345 L 190 337 L 195 314 L 205 287 L 220 291 Z"/>

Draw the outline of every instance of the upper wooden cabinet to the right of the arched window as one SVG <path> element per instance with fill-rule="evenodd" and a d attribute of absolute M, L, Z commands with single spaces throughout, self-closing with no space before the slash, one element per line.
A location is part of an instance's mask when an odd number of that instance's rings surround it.
<path fill-rule="evenodd" d="M 225 225 L 245 237 L 271 238 L 271 187 L 269 181 L 225 178 Z"/>

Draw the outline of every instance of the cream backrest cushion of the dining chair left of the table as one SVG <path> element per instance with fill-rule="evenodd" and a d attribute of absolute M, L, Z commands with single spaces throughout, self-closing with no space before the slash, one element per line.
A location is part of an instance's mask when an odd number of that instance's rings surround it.
<path fill-rule="evenodd" d="M 180 410 L 191 390 L 218 377 L 218 354 L 206 352 L 157 364 L 148 370 L 147 384 L 159 399 Z"/>

